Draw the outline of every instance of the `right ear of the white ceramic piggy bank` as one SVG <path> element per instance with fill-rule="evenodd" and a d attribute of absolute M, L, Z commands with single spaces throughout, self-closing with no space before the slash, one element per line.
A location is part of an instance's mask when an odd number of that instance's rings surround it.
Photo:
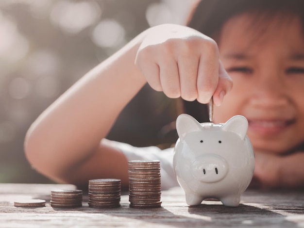
<path fill-rule="evenodd" d="M 222 126 L 222 129 L 235 132 L 241 139 L 244 139 L 248 130 L 248 120 L 242 115 L 235 115 Z"/>

